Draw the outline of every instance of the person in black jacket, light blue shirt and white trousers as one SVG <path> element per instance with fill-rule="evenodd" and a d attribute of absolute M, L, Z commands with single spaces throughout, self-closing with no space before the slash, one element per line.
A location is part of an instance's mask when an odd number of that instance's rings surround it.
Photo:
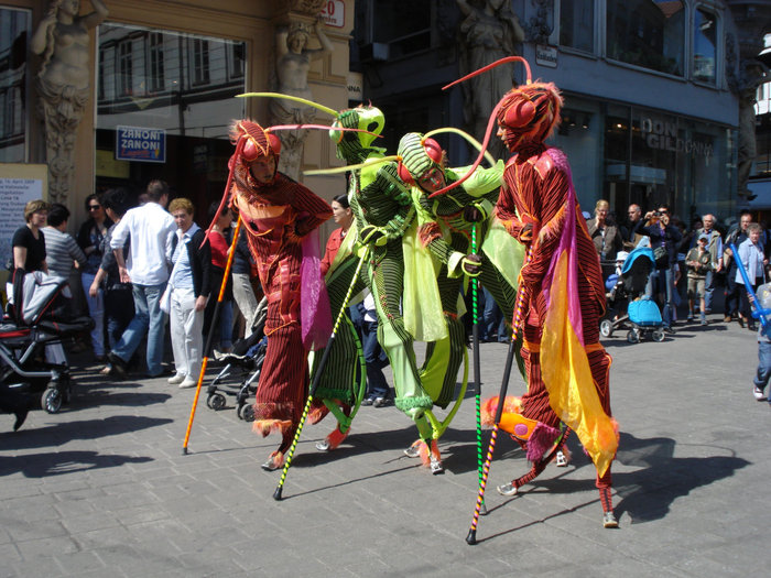
<path fill-rule="evenodd" d="M 211 292 L 211 248 L 205 232 L 193 222 L 195 207 L 186 198 L 169 205 L 177 230 L 169 236 L 166 260 L 173 268 L 169 296 L 161 307 L 169 309 L 172 350 L 176 374 L 172 385 L 194 388 L 198 383 L 204 356 L 204 309 Z"/>

